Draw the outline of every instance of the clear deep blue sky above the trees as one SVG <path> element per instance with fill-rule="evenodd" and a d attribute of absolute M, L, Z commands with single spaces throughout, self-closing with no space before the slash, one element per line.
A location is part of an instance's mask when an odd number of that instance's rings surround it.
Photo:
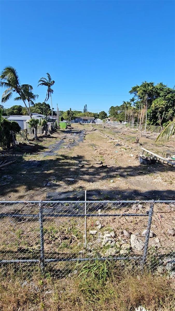
<path fill-rule="evenodd" d="M 1 70 L 17 69 L 38 101 L 49 72 L 53 107 L 107 111 L 142 81 L 175 84 L 174 1 L 0 1 Z M 2 94 L 2 90 L 0 95 Z M 19 102 L 18 102 L 19 103 Z M 16 104 L 9 100 L 4 107 Z M 21 105 L 23 105 L 21 103 Z"/>

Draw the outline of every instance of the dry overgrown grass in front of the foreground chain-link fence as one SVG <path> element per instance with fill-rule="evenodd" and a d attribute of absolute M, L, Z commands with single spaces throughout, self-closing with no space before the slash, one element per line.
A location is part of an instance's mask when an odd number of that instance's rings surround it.
<path fill-rule="evenodd" d="M 43 276 L 35 271 L 1 278 L 0 310 L 134 311 L 141 305 L 174 310 L 173 279 L 166 275 L 111 261 L 57 265 Z"/>

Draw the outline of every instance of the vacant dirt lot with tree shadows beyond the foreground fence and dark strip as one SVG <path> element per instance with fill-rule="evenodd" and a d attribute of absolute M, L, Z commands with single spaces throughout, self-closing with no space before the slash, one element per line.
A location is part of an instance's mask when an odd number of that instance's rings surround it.
<path fill-rule="evenodd" d="M 118 142 L 109 142 L 106 135 Z M 71 130 L 55 131 L 21 146 L 16 162 L 1 169 L 1 199 L 44 200 L 48 192 L 72 190 L 173 191 L 172 166 L 144 166 L 135 159 L 141 147 L 163 156 L 175 150 L 174 140 L 155 145 L 156 135 L 143 133 L 141 146 L 133 143 L 140 133 L 125 128 L 73 124 Z M 96 162 L 101 161 L 104 166 L 99 167 Z"/>

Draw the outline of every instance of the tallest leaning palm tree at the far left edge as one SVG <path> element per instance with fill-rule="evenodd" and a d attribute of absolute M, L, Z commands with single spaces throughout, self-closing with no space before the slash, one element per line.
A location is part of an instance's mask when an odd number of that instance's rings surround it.
<path fill-rule="evenodd" d="M 1 99 L 2 103 L 5 103 L 7 100 L 9 100 L 12 97 L 13 92 L 16 92 L 21 97 L 21 100 L 25 104 L 27 112 L 31 117 L 31 112 L 28 109 L 26 102 L 25 102 L 26 98 L 23 93 L 23 89 L 25 87 L 32 88 L 32 86 L 29 84 L 20 85 L 19 76 L 15 68 L 8 66 L 8 67 L 5 67 L 4 70 L 2 70 L 1 75 L 0 75 L 0 87 L 6 88 L 6 90 L 2 94 L 2 99 Z"/>

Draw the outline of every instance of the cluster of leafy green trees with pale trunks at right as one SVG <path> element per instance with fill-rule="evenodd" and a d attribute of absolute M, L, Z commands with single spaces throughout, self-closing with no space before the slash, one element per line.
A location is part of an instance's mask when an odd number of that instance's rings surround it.
<path fill-rule="evenodd" d="M 120 106 L 111 106 L 109 116 L 116 121 L 126 121 L 129 128 L 142 128 L 145 124 L 158 125 L 162 129 L 173 121 L 175 116 L 175 90 L 162 82 L 144 81 L 129 91 L 134 95 Z"/>

